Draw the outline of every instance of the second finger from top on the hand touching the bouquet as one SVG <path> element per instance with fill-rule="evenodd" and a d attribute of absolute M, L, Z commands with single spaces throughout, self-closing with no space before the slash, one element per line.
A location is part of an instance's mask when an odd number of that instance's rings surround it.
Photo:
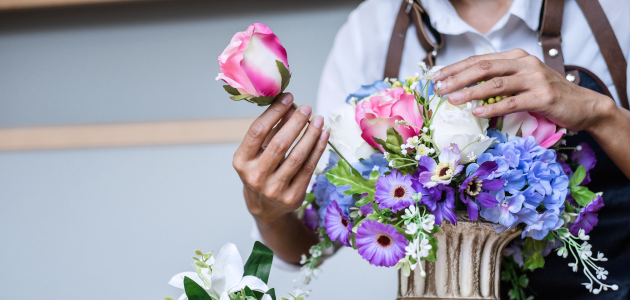
<path fill-rule="evenodd" d="M 513 75 L 524 68 L 514 59 L 480 60 L 469 68 L 441 81 L 440 95 L 449 94 L 490 78 Z"/>

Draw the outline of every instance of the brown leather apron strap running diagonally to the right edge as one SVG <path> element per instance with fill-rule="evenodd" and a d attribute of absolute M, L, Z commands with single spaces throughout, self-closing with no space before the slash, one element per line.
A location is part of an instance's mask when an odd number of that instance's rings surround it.
<path fill-rule="evenodd" d="M 604 9 L 599 4 L 599 1 L 595 0 L 577 0 L 588 25 L 591 27 L 593 36 L 599 46 L 599 51 L 604 56 L 606 66 L 610 72 L 610 76 L 615 84 L 617 95 L 619 96 L 619 102 L 625 109 L 630 109 L 628 106 L 628 90 L 626 86 L 626 70 L 628 63 L 623 56 L 619 40 L 615 36 L 615 32 L 608 22 L 608 18 L 604 13 Z"/>

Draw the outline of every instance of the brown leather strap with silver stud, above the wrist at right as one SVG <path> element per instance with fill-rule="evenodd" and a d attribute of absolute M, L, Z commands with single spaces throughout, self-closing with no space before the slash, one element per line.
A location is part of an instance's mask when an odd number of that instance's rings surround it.
<path fill-rule="evenodd" d="M 562 15 L 564 0 L 545 0 L 542 20 L 538 31 L 538 43 L 543 48 L 545 64 L 565 76 L 564 56 L 562 55 Z"/>

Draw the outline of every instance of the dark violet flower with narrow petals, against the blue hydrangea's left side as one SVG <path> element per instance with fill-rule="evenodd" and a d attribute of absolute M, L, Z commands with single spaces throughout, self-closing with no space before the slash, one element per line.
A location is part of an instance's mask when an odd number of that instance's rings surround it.
<path fill-rule="evenodd" d="M 472 174 L 459 187 L 459 199 L 468 208 L 468 217 L 471 220 L 476 220 L 479 216 L 479 207 L 477 207 L 475 199 L 479 200 L 479 203 L 486 208 L 494 207 L 499 203 L 494 196 L 487 192 L 482 192 L 482 190 L 498 191 L 503 188 L 505 180 L 494 179 L 494 177 L 488 179 L 497 168 L 499 168 L 499 165 L 493 161 L 486 161 L 481 165 L 470 164 L 468 166 L 467 171 L 472 172 Z"/>

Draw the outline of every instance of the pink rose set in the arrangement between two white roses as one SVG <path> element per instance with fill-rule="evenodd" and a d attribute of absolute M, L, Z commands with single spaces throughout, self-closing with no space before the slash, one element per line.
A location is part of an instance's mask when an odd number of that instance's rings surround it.
<path fill-rule="evenodd" d="M 407 141 L 417 136 L 422 128 L 422 114 L 413 95 L 405 93 L 402 87 L 385 89 L 357 103 L 355 115 L 361 127 L 361 137 L 370 146 L 383 150 L 372 137 L 387 139 L 387 129 L 394 127 Z M 406 121 L 413 126 L 396 125 L 396 121 Z"/>

